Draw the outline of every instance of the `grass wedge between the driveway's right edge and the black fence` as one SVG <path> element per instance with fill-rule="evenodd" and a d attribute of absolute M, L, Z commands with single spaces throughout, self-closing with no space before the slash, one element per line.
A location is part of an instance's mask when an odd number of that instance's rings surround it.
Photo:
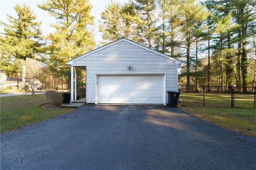
<path fill-rule="evenodd" d="M 198 106 L 181 109 L 219 127 L 256 137 L 256 109 Z"/>

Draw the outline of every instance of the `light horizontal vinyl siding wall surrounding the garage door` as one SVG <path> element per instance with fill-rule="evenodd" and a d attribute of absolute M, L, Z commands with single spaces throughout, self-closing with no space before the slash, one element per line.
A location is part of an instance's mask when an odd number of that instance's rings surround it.
<path fill-rule="evenodd" d="M 178 66 L 175 61 L 126 41 L 85 55 L 73 65 L 86 65 L 87 103 L 95 103 L 96 75 L 101 74 L 166 74 L 166 91 L 178 91 Z M 133 68 L 128 70 L 127 66 Z"/>

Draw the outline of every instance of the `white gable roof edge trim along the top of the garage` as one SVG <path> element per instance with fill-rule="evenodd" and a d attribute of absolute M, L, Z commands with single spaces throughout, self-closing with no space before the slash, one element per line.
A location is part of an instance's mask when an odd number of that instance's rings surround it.
<path fill-rule="evenodd" d="M 121 42 L 121 41 L 126 41 L 127 43 L 133 44 L 133 45 L 135 45 L 135 46 L 137 46 L 137 47 L 140 47 L 140 48 L 142 48 L 142 49 L 145 49 L 145 50 L 147 50 L 147 51 L 150 51 L 150 52 L 155 53 L 155 54 L 157 54 L 157 55 L 160 55 L 160 56 L 162 56 L 162 57 L 166 57 L 167 59 L 170 59 L 170 60 L 175 61 L 176 64 L 181 64 L 181 63 L 182 63 L 181 60 L 176 59 L 176 58 L 174 58 L 174 57 L 171 57 L 170 55 L 166 55 L 166 54 L 164 54 L 164 53 L 160 53 L 159 51 L 156 51 L 156 50 L 154 50 L 154 49 L 150 49 L 150 48 L 148 48 L 148 47 L 146 47 L 146 46 L 144 46 L 144 45 L 138 44 L 138 43 L 136 43 L 136 42 L 134 42 L 134 41 L 131 41 L 131 40 L 129 40 L 129 39 L 126 39 L 126 38 L 122 37 L 122 38 L 120 38 L 120 39 L 118 39 L 118 40 L 116 40 L 116 41 L 113 41 L 113 42 L 111 42 L 111 43 L 108 43 L 108 44 L 106 44 L 106 45 L 103 45 L 102 47 L 99 47 L 99 48 L 94 49 L 94 50 L 92 50 L 92 51 L 90 51 L 90 52 L 88 52 L 88 53 L 85 53 L 85 54 L 80 55 L 80 56 L 78 56 L 78 57 L 76 57 L 76 58 L 74 58 L 74 59 L 71 59 L 71 60 L 69 60 L 66 64 L 72 65 L 72 64 L 74 63 L 74 61 L 77 61 L 77 60 L 79 60 L 79 59 L 81 59 L 81 58 L 83 58 L 83 57 L 86 57 L 86 56 L 88 56 L 88 55 L 90 55 L 90 54 L 92 54 L 92 53 L 96 53 L 97 51 L 100 51 L 100 50 L 102 50 L 102 49 L 105 49 L 105 48 L 107 48 L 107 47 L 109 47 L 109 46 L 111 46 L 111 45 L 114 45 L 114 44 L 116 44 L 116 43 L 119 43 L 119 42 Z"/>

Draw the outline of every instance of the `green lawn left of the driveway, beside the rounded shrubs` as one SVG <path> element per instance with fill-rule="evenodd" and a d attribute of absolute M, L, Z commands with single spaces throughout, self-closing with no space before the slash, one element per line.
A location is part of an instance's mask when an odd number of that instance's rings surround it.
<path fill-rule="evenodd" d="M 74 109 L 42 109 L 49 101 L 44 94 L 1 98 L 1 133 L 69 113 Z"/>

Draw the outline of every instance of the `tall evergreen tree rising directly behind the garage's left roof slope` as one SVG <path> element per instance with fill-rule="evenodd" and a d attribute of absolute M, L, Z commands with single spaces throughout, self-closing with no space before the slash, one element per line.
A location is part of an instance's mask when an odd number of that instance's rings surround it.
<path fill-rule="evenodd" d="M 48 35 L 48 66 L 58 78 L 67 78 L 70 69 L 65 63 L 95 47 L 90 29 L 94 24 L 90 16 L 92 5 L 88 0 L 48 0 L 38 7 L 57 20 L 51 25 L 55 31 Z"/>

